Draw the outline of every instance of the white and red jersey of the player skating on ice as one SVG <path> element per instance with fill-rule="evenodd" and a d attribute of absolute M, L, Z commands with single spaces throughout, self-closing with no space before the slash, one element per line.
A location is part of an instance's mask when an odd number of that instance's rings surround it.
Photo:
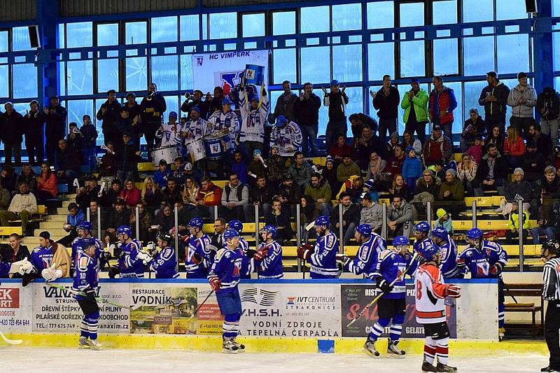
<path fill-rule="evenodd" d="M 447 285 L 443 282 L 440 269 L 435 265 L 423 264 L 414 276 L 416 288 L 416 323 L 433 324 L 446 321 L 444 299 Z"/>

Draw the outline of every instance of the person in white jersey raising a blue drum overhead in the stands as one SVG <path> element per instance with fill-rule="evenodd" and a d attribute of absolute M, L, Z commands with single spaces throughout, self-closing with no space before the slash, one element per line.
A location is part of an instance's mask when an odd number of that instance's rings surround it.
<path fill-rule="evenodd" d="M 262 100 L 259 103 L 258 95 L 248 97 L 245 89 L 244 78 L 241 80 L 239 90 L 239 104 L 241 111 L 241 132 L 239 142 L 242 144 L 247 156 L 253 155 L 258 149 L 262 152 L 265 143 L 265 124 L 268 114 L 268 96 L 264 85 L 260 87 Z"/>

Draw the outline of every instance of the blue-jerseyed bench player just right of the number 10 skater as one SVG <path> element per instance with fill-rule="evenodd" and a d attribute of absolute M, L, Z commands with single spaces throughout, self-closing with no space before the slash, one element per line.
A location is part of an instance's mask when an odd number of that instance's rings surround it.
<path fill-rule="evenodd" d="M 118 267 L 109 269 L 109 277 L 114 279 L 117 274 L 120 274 L 121 279 L 144 279 L 146 265 L 138 258 L 142 244 L 137 239 L 132 239 L 132 229 L 128 225 L 121 225 L 117 228 L 117 238 L 121 250 Z"/>

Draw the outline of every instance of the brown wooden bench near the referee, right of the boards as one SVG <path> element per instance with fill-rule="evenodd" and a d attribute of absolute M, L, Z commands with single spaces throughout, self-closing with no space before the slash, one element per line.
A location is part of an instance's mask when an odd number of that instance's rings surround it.
<path fill-rule="evenodd" d="M 531 335 L 536 337 L 545 325 L 544 304 L 542 300 L 542 284 L 540 283 L 505 283 L 505 297 L 512 297 L 514 303 L 505 303 L 505 312 L 528 312 L 531 314 Z M 519 303 L 515 297 L 538 297 L 540 306 L 535 303 Z M 540 312 L 540 325 L 536 323 L 536 314 Z M 528 329 L 525 323 L 508 324 L 510 328 Z"/>

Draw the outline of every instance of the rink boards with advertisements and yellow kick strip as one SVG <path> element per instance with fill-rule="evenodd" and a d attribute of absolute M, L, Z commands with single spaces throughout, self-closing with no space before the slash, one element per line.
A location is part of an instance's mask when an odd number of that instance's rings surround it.
<path fill-rule="evenodd" d="M 59 285 L 71 286 L 70 280 Z M 496 280 L 457 280 L 461 298 L 447 301 L 447 318 L 455 344 L 493 344 L 498 340 Z M 423 338 L 414 315 L 414 283 L 407 283 L 407 314 L 402 337 Z M 222 316 L 211 295 L 197 317 L 193 311 L 209 295 L 205 280 L 101 280 L 99 296 L 138 309 L 100 304 L 100 339 L 120 348 L 219 349 Z M 356 338 L 367 336 L 377 320 L 372 307 L 358 322 L 349 321 L 377 293 L 367 280 L 248 280 L 239 285 L 243 305 L 240 331 L 258 351 L 353 352 Z M 81 312 L 69 292 L 35 281 L 0 286 L 0 330 L 21 335 L 26 344 L 72 346 Z M 482 344 L 481 344 L 482 343 Z M 357 346 L 357 347 L 356 347 Z"/>

